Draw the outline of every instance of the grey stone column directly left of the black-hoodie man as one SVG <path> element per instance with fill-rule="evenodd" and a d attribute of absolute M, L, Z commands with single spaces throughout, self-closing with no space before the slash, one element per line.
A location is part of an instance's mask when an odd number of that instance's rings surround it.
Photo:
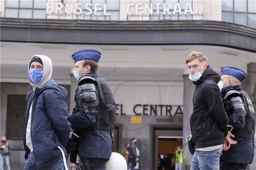
<path fill-rule="evenodd" d="M 190 116 L 193 112 L 193 96 L 196 86 L 188 78 L 188 74 L 183 74 L 184 92 L 183 92 L 183 146 L 186 142 L 186 137 L 191 134 Z M 191 82 L 191 84 L 190 84 Z"/>

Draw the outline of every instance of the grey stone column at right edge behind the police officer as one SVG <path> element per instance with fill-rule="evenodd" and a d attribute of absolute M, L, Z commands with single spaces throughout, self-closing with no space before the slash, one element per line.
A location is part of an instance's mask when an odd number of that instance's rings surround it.
<path fill-rule="evenodd" d="M 244 70 L 246 72 L 246 70 Z M 249 63 L 247 64 L 247 77 L 244 79 L 242 82 L 242 90 L 248 93 L 251 101 L 253 108 L 255 110 L 256 108 L 256 63 Z M 256 138 L 256 135 L 254 135 Z M 253 170 L 256 167 L 256 150 L 254 150 L 254 159 L 253 163 L 249 164 L 249 170 Z"/>

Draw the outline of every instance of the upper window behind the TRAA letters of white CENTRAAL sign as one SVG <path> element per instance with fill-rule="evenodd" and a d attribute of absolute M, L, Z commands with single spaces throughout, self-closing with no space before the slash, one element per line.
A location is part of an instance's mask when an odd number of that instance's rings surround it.
<path fill-rule="evenodd" d="M 150 16 L 150 20 L 192 20 L 192 15 L 188 12 L 186 15 L 184 15 L 185 7 L 187 3 L 190 3 L 191 8 L 193 9 L 193 1 L 192 0 L 151 0 L 150 3 L 153 4 L 153 15 Z M 159 15 L 157 15 L 157 7 L 154 5 L 155 3 L 160 3 L 162 5 L 159 6 Z M 163 4 L 167 3 L 171 5 L 170 13 L 171 15 L 164 15 L 163 12 Z M 173 15 L 173 9 L 175 7 L 175 4 L 180 4 L 180 9 L 182 15 L 175 14 Z"/>

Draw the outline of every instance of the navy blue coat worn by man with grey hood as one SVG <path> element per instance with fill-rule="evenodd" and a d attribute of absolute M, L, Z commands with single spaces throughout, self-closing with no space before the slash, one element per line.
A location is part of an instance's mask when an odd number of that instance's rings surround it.
<path fill-rule="evenodd" d="M 69 138 L 71 124 L 68 122 L 68 107 L 66 100 L 67 90 L 59 86 L 54 80 L 48 81 L 44 87 L 36 87 L 26 97 L 28 101 L 24 118 L 23 144 L 25 159 L 28 159 L 30 150 L 26 145 L 26 131 L 29 109 L 33 100 L 31 115 L 31 140 L 37 167 L 42 167 L 53 160 L 62 157 L 58 146 L 66 154 L 63 147 Z"/>

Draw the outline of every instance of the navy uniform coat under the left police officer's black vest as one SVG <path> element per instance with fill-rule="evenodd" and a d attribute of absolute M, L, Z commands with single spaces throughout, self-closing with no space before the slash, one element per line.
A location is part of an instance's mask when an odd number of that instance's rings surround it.
<path fill-rule="evenodd" d="M 99 78 L 96 72 L 88 73 L 93 78 Z M 96 94 L 98 94 L 99 89 L 96 87 Z M 79 99 L 79 92 L 76 92 L 76 97 Z M 76 100 L 76 102 L 78 102 Z M 83 128 L 91 126 L 92 123 L 96 122 L 97 108 L 94 108 L 96 111 L 92 113 L 91 108 L 88 107 L 89 112 L 85 113 L 83 103 L 78 102 L 80 107 L 79 112 L 74 115 L 69 116 L 69 121 L 73 128 Z M 112 139 L 109 131 L 103 130 L 85 130 L 85 131 L 76 131 L 79 136 L 79 145 L 78 145 L 78 156 L 80 158 L 101 158 L 109 159 L 112 153 Z"/>

